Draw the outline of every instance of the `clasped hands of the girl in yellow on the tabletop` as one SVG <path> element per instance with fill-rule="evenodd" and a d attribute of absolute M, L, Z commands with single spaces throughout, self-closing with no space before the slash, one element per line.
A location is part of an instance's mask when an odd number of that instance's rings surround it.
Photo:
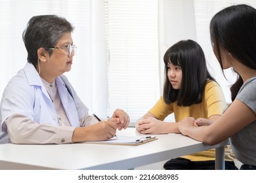
<path fill-rule="evenodd" d="M 162 122 L 153 117 L 138 120 L 136 129 L 142 134 L 162 134 L 167 132 L 167 122 Z"/>

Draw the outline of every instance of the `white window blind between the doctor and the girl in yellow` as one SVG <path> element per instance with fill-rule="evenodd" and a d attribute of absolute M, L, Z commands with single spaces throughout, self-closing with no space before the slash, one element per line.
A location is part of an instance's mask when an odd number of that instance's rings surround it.
<path fill-rule="evenodd" d="M 160 97 L 158 1 L 105 1 L 108 112 L 125 110 L 131 125 Z"/>

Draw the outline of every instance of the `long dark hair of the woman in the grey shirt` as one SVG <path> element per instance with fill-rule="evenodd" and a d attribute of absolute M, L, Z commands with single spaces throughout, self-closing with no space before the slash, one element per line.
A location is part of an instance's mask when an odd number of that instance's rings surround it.
<path fill-rule="evenodd" d="M 240 63 L 251 69 L 256 69 L 255 8 L 248 5 L 234 5 L 224 8 L 213 16 L 210 23 L 210 33 L 213 50 L 222 69 L 221 50 L 223 49 Z M 236 82 L 230 88 L 232 101 L 236 98 L 242 84 L 242 77 L 238 74 Z"/>

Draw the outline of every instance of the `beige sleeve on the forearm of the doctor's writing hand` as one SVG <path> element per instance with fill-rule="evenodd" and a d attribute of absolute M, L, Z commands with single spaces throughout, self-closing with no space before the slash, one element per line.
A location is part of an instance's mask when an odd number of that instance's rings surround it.
<path fill-rule="evenodd" d="M 72 143 L 75 127 L 37 124 L 27 116 L 12 114 L 5 120 L 7 133 L 14 144 Z"/>

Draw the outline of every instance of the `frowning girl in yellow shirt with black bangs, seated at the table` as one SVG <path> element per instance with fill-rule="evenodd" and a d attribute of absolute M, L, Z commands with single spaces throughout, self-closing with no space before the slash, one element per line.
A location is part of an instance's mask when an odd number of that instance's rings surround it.
<path fill-rule="evenodd" d="M 175 121 L 192 116 L 217 120 L 226 107 L 221 87 L 209 74 L 201 46 L 192 40 L 179 41 L 167 50 L 163 96 L 136 127 L 140 133 L 181 133 L 178 123 L 163 122 L 169 114 Z M 215 169 L 215 150 L 171 159 L 165 169 Z M 232 154 L 226 154 L 226 169 L 236 169 Z"/>

